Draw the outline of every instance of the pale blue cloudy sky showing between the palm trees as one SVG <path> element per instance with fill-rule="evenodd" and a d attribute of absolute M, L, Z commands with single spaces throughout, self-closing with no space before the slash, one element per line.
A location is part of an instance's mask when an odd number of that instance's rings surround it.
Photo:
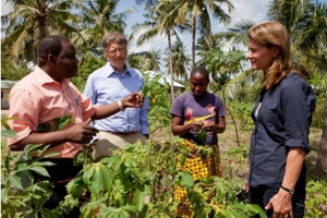
<path fill-rule="evenodd" d="M 234 7 L 233 12 L 230 14 L 232 21 L 228 26 L 223 26 L 223 24 L 219 24 L 218 22 L 213 23 L 213 33 L 223 32 L 228 29 L 228 27 L 232 27 L 234 23 L 241 22 L 242 20 L 251 20 L 255 23 L 259 23 L 266 21 L 267 8 L 270 0 L 230 0 Z M 327 3 L 327 0 L 318 0 L 319 2 Z M 131 33 L 131 26 L 135 23 L 143 23 L 143 7 L 137 7 L 135 4 L 135 0 L 121 0 L 118 4 L 116 13 L 120 13 L 126 11 L 128 9 L 135 7 L 136 11 L 131 14 L 125 22 L 128 23 L 126 34 Z M 11 11 L 12 7 L 5 3 L 5 0 L 1 0 L 1 14 L 7 14 Z M 136 33 L 135 38 L 142 33 Z M 191 53 L 191 34 L 184 33 L 180 35 L 184 46 L 186 47 L 186 51 Z M 130 41 L 129 44 L 129 52 L 140 52 L 147 51 L 149 49 L 161 50 L 165 51 L 167 48 L 167 37 L 165 35 L 157 36 L 149 41 L 145 43 L 142 46 L 136 46 L 135 41 Z"/>

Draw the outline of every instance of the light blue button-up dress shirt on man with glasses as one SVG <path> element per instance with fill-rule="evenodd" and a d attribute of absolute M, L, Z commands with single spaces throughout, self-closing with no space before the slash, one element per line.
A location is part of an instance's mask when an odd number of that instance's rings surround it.
<path fill-rule="evenodd" d="M 144 85 L 142 74 L 126 66 L 120 74 L 114 72 L 110 62 L 89 74 L 84 94 L 94 105 L 106 105 L 121 100 L 129 94 L 140 93 Z M 109 118 L 94 121 L 94 126 L 100 131 L 133 132 L 148 134 L 148 99 L 145 98 L 141 108 L 126 108 Z"/>

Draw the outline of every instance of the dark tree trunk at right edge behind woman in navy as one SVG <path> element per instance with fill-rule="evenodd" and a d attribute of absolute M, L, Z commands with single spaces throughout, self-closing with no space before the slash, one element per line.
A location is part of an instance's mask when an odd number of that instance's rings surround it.
<path fill-rule="evenodd" d="M 325 119 L 317 157 L 317 169 L 327 179 L 327 88 L 325 90 Z"/>

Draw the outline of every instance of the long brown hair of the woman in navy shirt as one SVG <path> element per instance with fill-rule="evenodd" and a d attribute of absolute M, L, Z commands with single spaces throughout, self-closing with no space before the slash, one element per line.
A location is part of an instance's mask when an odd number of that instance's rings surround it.
<path fill-rule="evenodd" d="M 282 24 L 277 21 L 259 23 L 249 29 L 247 36 L 268 48 L 276 46 L 279 49 L 272 64 L 265 72 L 264 81 L 267 89 L 278 84 L 290 71 L 305 77 L 292 68 L 291 40 L 287 28 Z"/>

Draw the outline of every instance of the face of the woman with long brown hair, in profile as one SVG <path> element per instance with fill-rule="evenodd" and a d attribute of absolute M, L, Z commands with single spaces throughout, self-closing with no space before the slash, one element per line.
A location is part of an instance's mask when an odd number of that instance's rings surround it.
<path fill-rule="evenodd" d="M 276 47 L 268 48 L 253 39 L 249 41 L 249 52 L 246 58 L 251 61 L 252 70 L 263 70 L 266 72 L 278 55 Z"/>

